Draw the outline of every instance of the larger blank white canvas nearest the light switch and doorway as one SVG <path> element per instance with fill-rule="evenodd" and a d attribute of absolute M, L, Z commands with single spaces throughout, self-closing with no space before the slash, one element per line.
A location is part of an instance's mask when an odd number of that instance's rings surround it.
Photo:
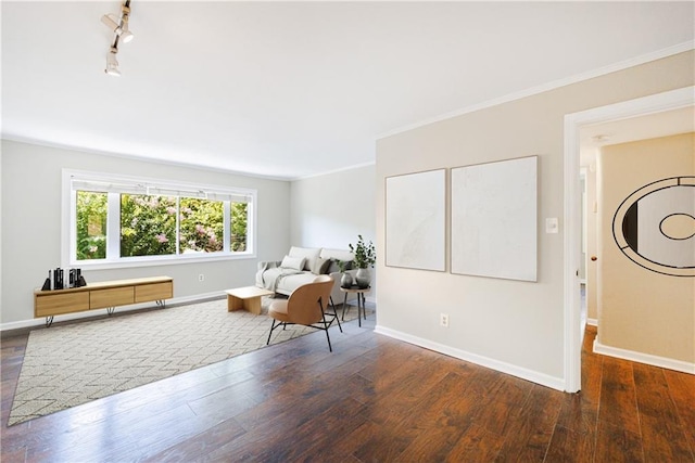
<path fill-rule="evenodd" d="M 452 176 L 452 273 L 536 281 L 538 156 Z"/>

